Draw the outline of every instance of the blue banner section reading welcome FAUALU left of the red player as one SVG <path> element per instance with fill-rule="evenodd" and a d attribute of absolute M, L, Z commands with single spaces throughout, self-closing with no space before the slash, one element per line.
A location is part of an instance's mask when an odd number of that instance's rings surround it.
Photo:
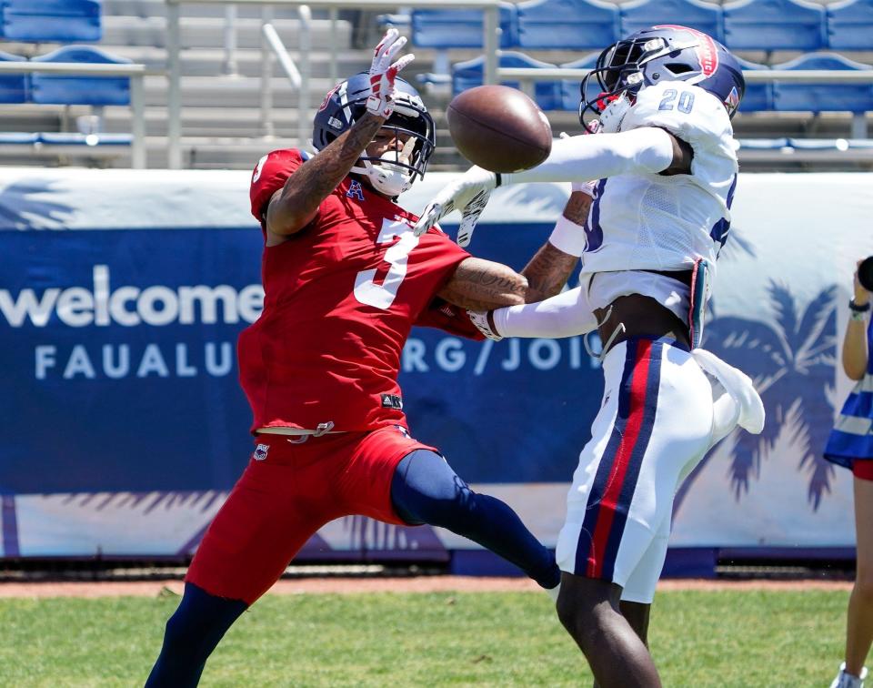
<path fill-rule="evenodd" d="M 229 487 L 260 252 L 253 228 L 0 232 L 0 489 Z"/>

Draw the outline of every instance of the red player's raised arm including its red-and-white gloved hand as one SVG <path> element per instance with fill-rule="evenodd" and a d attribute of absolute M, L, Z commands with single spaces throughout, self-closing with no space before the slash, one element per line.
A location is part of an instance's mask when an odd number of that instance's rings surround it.
<path fill-rule="evenodd" d="M 393 62 L 406 45 L 406 37 L 389 29 L 374 50 L 370 66 L 370 96 L 366 113 L 318 155 L 300 167 L 270 199 L 266 210 L 267 231 L 278 237 L 295 234 L 318 214 L 318 207 L 355 166 L 376 132 L 394 111 L 397 73 L 415 56 L 406 55 Z"/>

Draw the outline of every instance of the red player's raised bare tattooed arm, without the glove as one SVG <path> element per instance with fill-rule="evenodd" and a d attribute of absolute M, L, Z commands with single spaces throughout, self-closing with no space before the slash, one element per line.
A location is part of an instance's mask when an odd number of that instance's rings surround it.
<path fill-rule="evenodd" d="M 366 113 L 288 177 L 266 209 L 267 246 L 281 244 L 316 218 L 321 202 L 346 178 L 384 122 Z"/>

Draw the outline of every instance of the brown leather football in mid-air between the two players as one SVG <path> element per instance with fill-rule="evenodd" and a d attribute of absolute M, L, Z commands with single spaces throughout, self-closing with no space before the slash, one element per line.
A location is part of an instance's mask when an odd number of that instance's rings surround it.
<path fill-rule="evenodd" d="M 552 149 L 546 115 L 517 88 L 469 88 L 448 104 L 446 118 L 460 154 L 492 172 L 537 167 Z"/>

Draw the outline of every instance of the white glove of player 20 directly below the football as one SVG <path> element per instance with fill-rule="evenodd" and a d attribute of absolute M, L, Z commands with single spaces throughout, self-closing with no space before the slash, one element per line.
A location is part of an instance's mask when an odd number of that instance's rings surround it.
<path fill-rule="evenodd" d="M 450 182 L 425 207 L 413 232 L 420 237 L 452 210 L 460 210 L 461 225 L 457 229 L 458 246 L 467 246 L 476 229 L 479 216 L 497 187 L 497 175 L 482 167 L 470 167 L 467 172 Z"/>

